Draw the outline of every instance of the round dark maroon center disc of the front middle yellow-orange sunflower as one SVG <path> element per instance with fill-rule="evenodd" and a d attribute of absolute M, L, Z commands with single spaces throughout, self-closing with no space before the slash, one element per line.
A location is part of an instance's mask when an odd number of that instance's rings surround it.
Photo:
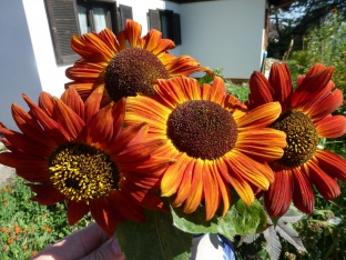
<path fill-rule="evenodd" d="M 169 117 L 167 136 L 187 156 L 214 160 L 234 147 L 237 127 L 232 114 L 207 100 L 190 100 Z"/>

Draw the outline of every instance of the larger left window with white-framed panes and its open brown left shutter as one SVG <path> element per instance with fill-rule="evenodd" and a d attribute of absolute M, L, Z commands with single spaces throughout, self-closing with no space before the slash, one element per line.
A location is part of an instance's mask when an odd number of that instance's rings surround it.
<path fill-rule="evenodd" d="M 80 57 L 71 49 L 73 34 L 100 32 L 110 28 L 118 33 L 116 2 L 112 0 L 44 0 L 58 64 Z"/>

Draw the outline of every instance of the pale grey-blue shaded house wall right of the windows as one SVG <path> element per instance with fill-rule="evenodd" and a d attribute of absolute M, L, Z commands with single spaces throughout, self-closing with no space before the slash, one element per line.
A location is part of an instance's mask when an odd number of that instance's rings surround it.
<path fill-rule="evenodd" d="M 265 4 L 265 0 L 181 4 L 182 54 L 212 69 L 224 68 L 227 78 L 248 79 L 261 68 Z"/>

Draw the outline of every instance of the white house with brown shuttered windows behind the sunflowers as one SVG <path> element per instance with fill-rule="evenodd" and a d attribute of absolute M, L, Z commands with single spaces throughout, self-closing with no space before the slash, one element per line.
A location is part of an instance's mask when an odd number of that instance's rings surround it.
<path fill-rule="evenodd" d="M 142 34 L 157 28 L 174 39 L 172 54 L 190 54 L 203 66 L 223 68 L 227 78 L 248 79 L 261 68 L 271 4 L 267 0 L 1 0 L 0 121 L 17 129 L 11 104 L 27 109 L 22 93 L 34 101 L 42 90 L 61 96 L 69 81 L 64 71 L 78 59 L 70 48 L 73 33 L 104 27 L 116 33 L 126 18 L 142 24 Z"/>

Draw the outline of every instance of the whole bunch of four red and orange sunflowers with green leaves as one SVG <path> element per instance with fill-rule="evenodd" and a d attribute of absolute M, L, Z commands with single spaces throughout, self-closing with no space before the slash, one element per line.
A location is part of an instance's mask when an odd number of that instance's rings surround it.
<path fill-rule="evenodd" d="M 346 161 L 317 146 L 346 132 L 345 117 L 332 116 L 343 102 L 333 68 L 315 64 L 293 91 L 287 64 L 274 63 L 268 80 L 251 76 L 241 102 L 132 20 L 71 46 L 81 59 L 61 98 L 23 94 L 30 111 L 12 106 L 21 132 L 0 124 L 0 163 L 38 203 L 65 201 L 70 224 L 90 212 L 126 259 L 189 259 L 195 233 L 262 232 L 292 201 L 312 213 L 313 186 L 327 200 L 340 193 Z M 194 72 L 213 80 L 201 86 Z"/>

